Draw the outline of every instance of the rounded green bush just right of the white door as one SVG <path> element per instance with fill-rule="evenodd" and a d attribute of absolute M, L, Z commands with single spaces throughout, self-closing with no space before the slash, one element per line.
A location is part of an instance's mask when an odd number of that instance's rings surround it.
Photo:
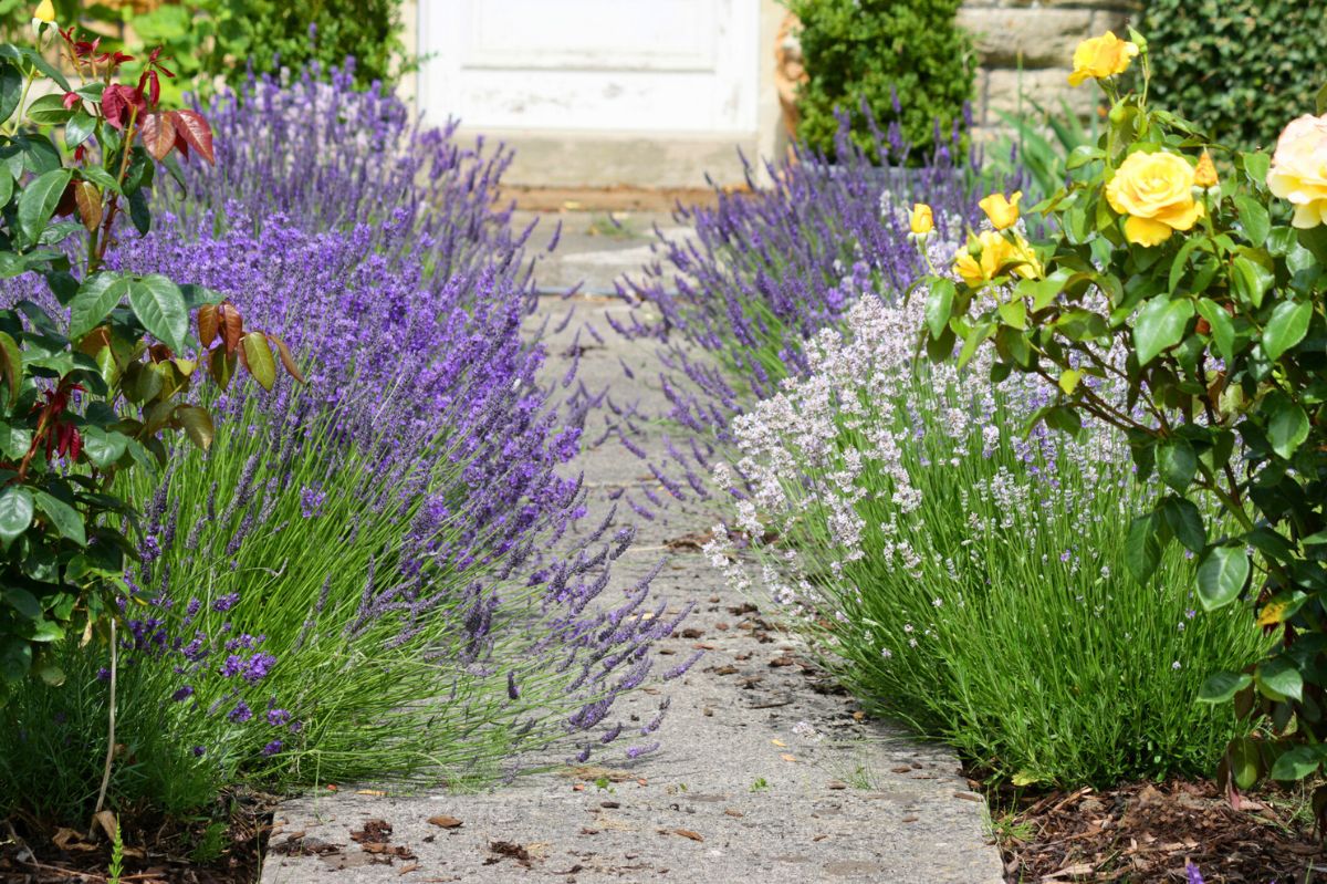
<path fill-rule="evenodd" d="M 798 134 L 833 151 L 835 108 L 851 114 L 852 137 L 871 154 L 874 141 L 861 111 L 881 129 L 898 122 L 914 159 L 934 149 L 973 97 L 971 41 L 954 21 L 961 0 L 790 0 L 802 20 L 808 81 L 798 92 Z M 897 90 L 898 104 L 894 104 Z M 896 106 L 898 110 L 896 110 Z"/>

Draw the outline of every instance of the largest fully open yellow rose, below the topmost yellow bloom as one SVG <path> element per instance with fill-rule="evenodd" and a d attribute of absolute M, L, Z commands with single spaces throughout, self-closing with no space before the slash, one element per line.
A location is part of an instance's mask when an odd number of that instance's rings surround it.
<path fill-rule="evenodd" d="M 1105 186 L 1105 198 L 1124 222 L 1124 238 L 1157 246 L 1177 230 L 1189 230 L 1202 218 L 1193 199 L 1193 166 L 1176 154 L 1129 154 Z"/>

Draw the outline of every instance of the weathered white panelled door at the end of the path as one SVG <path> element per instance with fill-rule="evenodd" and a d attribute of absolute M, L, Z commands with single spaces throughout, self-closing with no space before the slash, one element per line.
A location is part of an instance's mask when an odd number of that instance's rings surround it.
<path fill-rule="evenodd" d="M 470 130 L 756 129 L 759 0 L 419 0 L 421 109 Z"/>

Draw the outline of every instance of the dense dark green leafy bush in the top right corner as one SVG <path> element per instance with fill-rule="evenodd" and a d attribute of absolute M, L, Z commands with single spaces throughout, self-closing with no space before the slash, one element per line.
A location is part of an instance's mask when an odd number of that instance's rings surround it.
<path fill-rule="evenodd" d="M 1271 149 L 1327 81 L 1327 0 L 1147 0 L 1152 93 L 1221 142 Z"/>

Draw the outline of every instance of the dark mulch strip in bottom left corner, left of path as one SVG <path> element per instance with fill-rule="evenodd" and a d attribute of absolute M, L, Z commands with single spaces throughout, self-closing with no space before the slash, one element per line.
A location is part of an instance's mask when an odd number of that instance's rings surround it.
<path fill-rule="evenodd" d="M 198 861 L 207 824 L 135 826 L 125 818 L 125 884 L 251 884 L 257 880 L 272 828 L 272 795 L 228 795 L 226 834 L 216 855 Z M 0 881 L 4 884 L 101 884 L 110 867 L 110 842 L 100 828 L 49 830 L 23 818 L 0 819 Z"/>

